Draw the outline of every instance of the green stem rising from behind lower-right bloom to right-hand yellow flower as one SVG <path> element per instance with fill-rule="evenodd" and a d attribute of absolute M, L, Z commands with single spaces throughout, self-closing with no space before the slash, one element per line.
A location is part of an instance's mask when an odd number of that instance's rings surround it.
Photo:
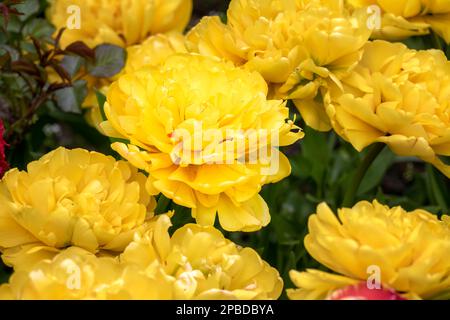
<path fill-rule="evenodd" d="M 355 172 L 347 191 L 345 192 L 342 207 L 350 207 L 354 204 L 356 192 L 358 191 L 367 170 L 384 149 L 384 146 L 384 143 L 376 143 L 370 147 L 363 161 L 359 165 L 358 170 Z"/>

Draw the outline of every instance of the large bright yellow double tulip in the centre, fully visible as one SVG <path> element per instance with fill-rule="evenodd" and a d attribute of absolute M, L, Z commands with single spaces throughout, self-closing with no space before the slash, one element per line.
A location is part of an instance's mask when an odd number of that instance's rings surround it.
<path fill-rule="evenodd" d="M 303 136 L 267 90 L 256 72 L 172 55 L 111 85 L 101 127 L 129 141 L 112 147 L 150 174 L 151 194 L 192 208 L 202 225 L 213 225 L 218 212 L 224 229 L 255 231 L 270 221 L 261 187 L 290 173 L 277 148 Z"/>

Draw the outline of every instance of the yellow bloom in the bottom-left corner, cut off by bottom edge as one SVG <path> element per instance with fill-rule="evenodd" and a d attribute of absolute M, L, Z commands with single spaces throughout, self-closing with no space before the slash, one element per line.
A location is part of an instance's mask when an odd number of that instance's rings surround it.
<path fill-rule="evenodd" d="M 0 300 L 171 299 L 171 279 L 69 247 L 29 268 L 15 270 L 0 286 Z"/>

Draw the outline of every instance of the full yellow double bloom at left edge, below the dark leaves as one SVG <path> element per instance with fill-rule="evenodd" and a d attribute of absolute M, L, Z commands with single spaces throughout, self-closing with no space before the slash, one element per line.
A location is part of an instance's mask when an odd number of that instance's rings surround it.
<path fill-rule="evenodd" d="M 0 251 L 8 265 L 67 246 L 122 251 L 153 216 L 146 177 L 125 161 L 58 148 L 0 181 Z"/>

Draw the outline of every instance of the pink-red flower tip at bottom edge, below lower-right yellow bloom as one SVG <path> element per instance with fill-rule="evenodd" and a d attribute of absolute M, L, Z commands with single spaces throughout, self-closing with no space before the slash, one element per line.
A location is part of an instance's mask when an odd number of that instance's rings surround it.
<path fill-rule="evenodd" d="M 329 300 L 406 300 L 392 289 L 369 289 L 365 282 L 334 291 Z"/>

